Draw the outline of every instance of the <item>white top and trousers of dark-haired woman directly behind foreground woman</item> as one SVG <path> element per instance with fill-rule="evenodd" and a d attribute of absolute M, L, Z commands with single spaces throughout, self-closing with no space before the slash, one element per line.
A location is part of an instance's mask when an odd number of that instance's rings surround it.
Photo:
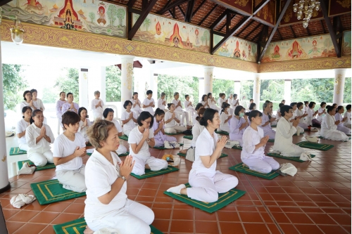
<path fill-rule="evenodd" d="M 54 142 L 54 157 L 68 157 L 73 155 L 77 146 L 81 149 L 86 147 L 82 134 L 75 134 L 75 140 L 71 141 L 64 134 L 58 136 Z M 83 193 L 87 190 L 84 181 L 84 164 L 82 157 L 75 157 L 73 160 L 56 166 L 56 177 L 63 188 Z"/>

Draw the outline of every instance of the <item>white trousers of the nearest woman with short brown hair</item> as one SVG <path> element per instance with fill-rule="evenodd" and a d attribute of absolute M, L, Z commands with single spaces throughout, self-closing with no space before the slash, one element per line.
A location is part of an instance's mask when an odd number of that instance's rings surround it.
<path fill-rule="evenodd" d="M 113 228 L 118 234 L 150 234 L 149 225 L 153 223 L 154 213 L 144 204 L 127 199 L 125 207 L 103 217 L 88 221 L 87 225 L 96 231 L 101 228 Z"/>

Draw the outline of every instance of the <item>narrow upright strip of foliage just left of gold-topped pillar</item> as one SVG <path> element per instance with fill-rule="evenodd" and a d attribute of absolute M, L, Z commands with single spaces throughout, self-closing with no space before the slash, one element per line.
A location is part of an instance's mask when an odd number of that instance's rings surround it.
<path fill-rule="evenodd" d="M 106 101 L 121 101 L 121 71 L 116 66 L 106 67 Z"/>

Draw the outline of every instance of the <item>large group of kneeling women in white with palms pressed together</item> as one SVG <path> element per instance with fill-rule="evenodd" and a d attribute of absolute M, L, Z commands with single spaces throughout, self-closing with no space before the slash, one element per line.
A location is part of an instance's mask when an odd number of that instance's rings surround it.
<path fill-rule="evenodd" d="M 84 209 L 86 234 L 101 228 L 114 228 L 119 233 L 150 233 L 153 212 L 149 207 L 127 199 L 126 181 L 130 173 L 143 175 L 145 169 L 158 171 L 168 167 L 166 160 L 151 155 L 149 147 L 176 141 L 175 137 L 166 134 L 188 129 L 191 125 L 189 110 L 193 115 L 191 148 L 195 153 L 189 172 L 191 188 L 181 184 L 168 191 L 201 202 L 215 202 L 218 193 L 225 193 L 239 183 L 236 176 L 216 170 L 217 160 L 228 141 L 226 136 L 218 137 L 215 131 L 219 129 L 229 133 L 230 141 L 239 142 L 242 162 L 249 169 L 264 174 L 279 169 L 279 163 L 265 155 L 268 141 L 275 139 L 274 150 L 282 155 L 300 157 L 304 150 L 292 143 L 292 136 L 308 129 L 318 113 L 323 113 L 319 115 L 322 116 L 323 137 L 345 141 L 348 139 L 346 134 L 351 134 L 351 105 L 346 106 L 345 113 L 344 107 L 334 105 L 313 112 L 313 102 L 308 103 L 309 110 L 303 110 L 303 103 L 284 105 L 283 102 L 280 103 L 279 113 L 273 117 L 272 102 L 269 100 L 263 104 L 263 112 L 256 110 L 256 104 L 251 100 L 246 112 L 239 105 L 236 94 L 226 100 L 225 93 L 220 93 L 218 100 L 221 109 L 212 93 L 208 93 L 203 95 L 196 108 L 189 101 L 189 96 L 185 96 L 185 110 L 182 109 L 179 93 L 175 93 L 172 103 L 166 103 L 165 93 L 162 93 L 155 111 L 152 91 L 146 92 L 147 98 L 143 103 L 139 101 L 138 93 L 133 93 L 132 99 L 123 103 L 125 112 L 121 115 L 121 126 L 113 119 L 113 109 L 103 110 L 103 101 L 99 98 L 99 91 L 96 91 L 91 107 L 94 123 L 87 119 L 86 108 L 73 103 L 72 93 L 68 93 L 67 100 L 65 93 L 60 93 L 56 110 L 57 114 L 61 112 L 58 117 L 64 131 L 55 139 L 50 127 L 44 124 L 44 106 L 38 98 L 34 100 L 33 93 L 30 94 L 25 91 L 23 95 L 27 105 L 23 106 L 23 119 L 16 128 L 19 146 L 27 150 L 28 159 L 37 167 L 47 162 L 54 163 L 56 176 L 63 188 L 87 193 Z M 321 107 L 325 109 L 325 105 L 322 103 Z M 272 125 L 277 125 L 276 131 L 272 130 Z M 120 145 L 119 136 L 122 134 L 128 136 L 130 152 L 123 162 L 118 157 L 127 152 L 127 148 Z M 54 151 L 51 151 L 51 143 L 54 143 Z M 84 165 L 82 157 L 87 155 L 88 143 L 92 144 L 94 152 Z M 86 168 L 89 171 L 87 174 L 84 173 Z"/>

